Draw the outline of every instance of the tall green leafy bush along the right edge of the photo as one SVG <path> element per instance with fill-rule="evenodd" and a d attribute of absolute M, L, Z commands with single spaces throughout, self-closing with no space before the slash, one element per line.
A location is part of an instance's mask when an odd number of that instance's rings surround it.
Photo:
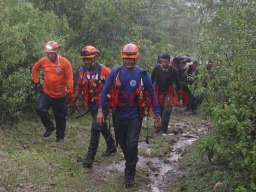
<path fill-rule="evenodd" d="M 242 192 L 256 189 L 256 2 L 228 0 L 220 5 L 199 42 L 215 69 L 210 78 L 205 65 L 200 66 L 198 92 L 205 97 L 204 110 L 216 122 L 216 134 L 200 153 L 249 172 L 250 183 L 238 183 L 236 191 Z"/>

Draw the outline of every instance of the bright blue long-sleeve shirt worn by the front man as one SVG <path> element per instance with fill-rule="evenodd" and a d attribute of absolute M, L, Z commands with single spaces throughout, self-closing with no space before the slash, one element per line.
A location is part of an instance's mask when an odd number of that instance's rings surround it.
<path fill-rule="evenodd" d="M 116 76 L 118 68 L 119 67 L 116 67 L 110 72 L 106 84 L 101 91 L 99 108 L 102 108 L 102 106 L 107 101 L 107 95 L 110 92 L 110 88 L 113 86 L 113 82 L 115 81 L 114 78 Z M 120 118 L 128 120 L 133 119 L 135 117 L 139 117 L 140 114 L 138 113 L 137 106 L 134 105 L 134 93 L 137 89 L 137 85 L 140 83 L 140 68 L 136 66 L 135 71 L 127 72 L 125 71 L 124 66 L 122 66 L 119 79 L 121 82 L 121 87 L 119 90 L 119 102 L 122 106 L 116 106 L 115 114 Z M 146 73 L 146 75 L 143 76 L 143 83 L 145 90 L 151 96 L 151 103 L 154 108 L 155 115 L 156 117 L 158 117 L 158 99 L 148 73 Z"/>

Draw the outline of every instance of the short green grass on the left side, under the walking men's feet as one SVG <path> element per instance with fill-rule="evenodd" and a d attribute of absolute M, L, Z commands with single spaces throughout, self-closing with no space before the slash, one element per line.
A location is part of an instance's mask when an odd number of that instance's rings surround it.
<path fill-rule="evenodd" d="M 180 112 L 171 117 L 173 124 L 179 122 Z M 185 124 L 194 121 L 200 127 L 201 117 L 187 115 Z M 34 119 L 34 120 L 32 120 Z M 146 124 L 144 120 L 144 124 Z M 110 157 L 101 154 L 106 150 L 104 138 L 100 137 L 100 143 L 92 169 L 83 168 L 90 140 L 91 118 L 75 120 L 68 118 L 67 132 L 63 143 L 57 143 L 55 135 L 43 137 L 45 128 L 42 127 L 37 115 L 18 122 L 12 127 L 0 129 L 0 187 L 10 192 L 136 192 L 140 189 L 150 190 L 148 185 L 149 171 L 157 171 L 158 168 L 152 162 L 148 162 L 148 168 L 138 168 L 135 178 L 135 186 L 131 190 L 124 187 L 123 172 L 120 170 L 108 170 L 104 172 L 104 165 L 120 164 L 124 168 L 122 150 Z M 171 151 L 171 142 L 177 140 L 177 136 L 161 136 L 153 132 L 153 121 L 149 121 L 149 147 L 142 147 L 139 155 L 148 157 L 147 149 L 151 149 L 151 157 L 168 157 Z M 194 127 L 192 127 L 194 128 Z M 187 131 L 190 128 L 186 126 Z M 113 128 L 112 128 L 113 131 Z M 142 129 L 140 142 L 146 139 L 146 130 Z M 163 144 L 166 141 L 166 144 Z M 165 145 L 165 147 L 161 147 Z M 156 147 L 158 146 L 158 147 Z M 98 166 L 103 165 L 102 169 Z M 100 184 L 99 184 L 100 182 Z"/>

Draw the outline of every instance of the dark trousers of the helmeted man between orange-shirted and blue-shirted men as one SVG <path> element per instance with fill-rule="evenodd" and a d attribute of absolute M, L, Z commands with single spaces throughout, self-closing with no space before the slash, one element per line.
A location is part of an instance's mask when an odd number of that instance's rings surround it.
<path fill-rule="evenodd" d="M 101 127 L 98 126 L 98 123 L 96 121 L 97 114 L 98 114 L 98 108 L 90 109 L 90 113 L 93 118 L 93 122 L 92 122 L 92 127 L 91 127 L 91 139 L 90 139 L 90 144 L 88 147 L 88 153 L 87 153 L 86 157 L 94 160 L 96 152 L 98 150 L 100 132 L 102 133 L 102 135 L 107 143 L 107 147 L 115 146 L 115 140 L 113 139 L 113 137 L 108 129 L 108 125 L 107 125 L 107 117 L 109 115 L 109 109 L 105 108 L 105 107 L 103 108 L 105 122 L 103 123 L 103 125 Z"/>

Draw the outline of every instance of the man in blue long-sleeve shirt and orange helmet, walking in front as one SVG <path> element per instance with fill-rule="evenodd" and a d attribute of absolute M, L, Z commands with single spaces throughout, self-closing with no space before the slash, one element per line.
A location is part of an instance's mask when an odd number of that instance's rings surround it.
<path fill-rule="evenodd" d="M 150 76 L 146 71 L 135 65 L 139 56 L 139 49 L 136 45 L 129 43 L 123 47 L 121 54 L 123 66 L 116 67 L 110 72 L 101 91 L 97 115 L 98 125 L 101 126 L 105 121 L 102 108 L 108 97 L 110 97 L 111 103 L 112 97 L 116 115 L 115 131 L 117 131 L 118 143 L 122 148 L 125 159 L 126 187 L 132 187 L 134 183 L 135 168 L 138 162 L 138 141 L 143 120 L 142 113 L 138 110 L 138 98 L 142 94 L 142 87 L 149 93 L 150 104 L 154 108 L 156 116 L 154 128 L 156 132 L 161 130 L 158 99 Z M 141 75 L 142 73 L 143 75 Z"/>

